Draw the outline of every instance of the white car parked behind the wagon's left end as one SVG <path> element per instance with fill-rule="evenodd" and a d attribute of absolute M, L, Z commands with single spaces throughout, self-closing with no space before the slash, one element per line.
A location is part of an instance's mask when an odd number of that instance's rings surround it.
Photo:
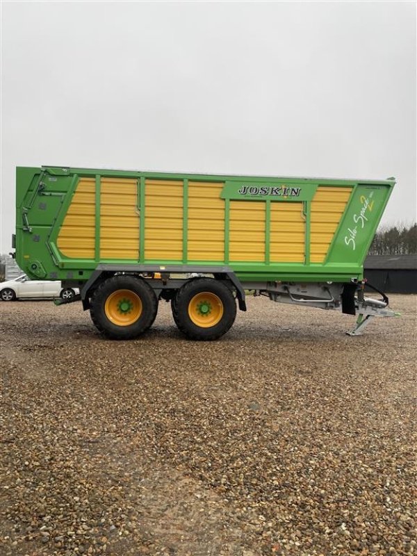
<path fill-rule="evenodd" d="M 30 280 L 26 275 L 0 282 L 0 299 L 3 301 L 14 301 L 26 297 L 35 299 L 62 297 L 63 300 L 69 300 L 76 293 L 79 293 L 79 290 L 63 288 L 60 281 Z"/>

